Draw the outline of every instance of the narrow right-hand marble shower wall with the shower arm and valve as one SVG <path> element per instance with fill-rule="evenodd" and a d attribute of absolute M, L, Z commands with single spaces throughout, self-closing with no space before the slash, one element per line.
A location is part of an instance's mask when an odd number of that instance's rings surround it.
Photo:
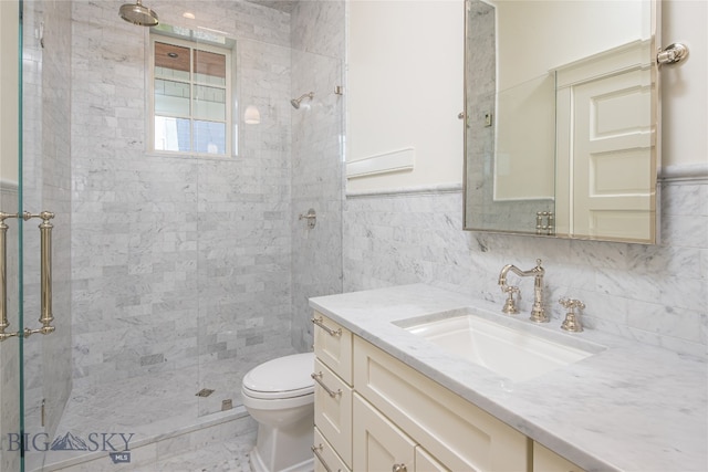
<path fill-rule="evenodd" d="M 311 296 L 342 292 L 344 1 L 298 2 L 292 12 L 292 344 L 310 350 Z M 300 213 L 312 208 L 313 229 Z"/>

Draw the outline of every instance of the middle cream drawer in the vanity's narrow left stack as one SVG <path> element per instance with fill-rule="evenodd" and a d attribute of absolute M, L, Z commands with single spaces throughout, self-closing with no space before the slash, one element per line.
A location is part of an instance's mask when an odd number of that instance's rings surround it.
<path fill-rule="evenodd" d="M 319 358 L 314 369 L 314 423 L 351 468 L 352 388 Z"/>

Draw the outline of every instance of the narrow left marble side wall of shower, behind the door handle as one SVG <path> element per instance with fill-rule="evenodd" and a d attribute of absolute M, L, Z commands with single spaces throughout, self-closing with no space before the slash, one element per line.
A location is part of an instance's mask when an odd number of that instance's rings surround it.
<path fill-rule="evenodd" d="M 19 311 L 25 329 L 53 316 L 53 332 L 22 343 L 22 406 L 27 470 L 44 465 L 71 392 L 71 9 L 23 1 L 22 122 L 19 212 Z M 37 33 L 39 32 L 39 34 Z M 44 241 L 41 212 L 51 212 Z M 25 217 L 27 218 L 27 217 Z M 18 221 L 19 222 L 19 221 Z M 51 234 L 51 237 L 49 235 Z M 48 255 L 42 261 L 41 254 Z"/>

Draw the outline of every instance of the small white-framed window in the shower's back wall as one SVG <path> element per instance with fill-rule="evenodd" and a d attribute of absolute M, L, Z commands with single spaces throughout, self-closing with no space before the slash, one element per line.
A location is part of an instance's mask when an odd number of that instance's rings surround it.
<path fill-rule="evenodd" d="M 231 49 L 150 34 L 152 150 L 231 156 Z"/>

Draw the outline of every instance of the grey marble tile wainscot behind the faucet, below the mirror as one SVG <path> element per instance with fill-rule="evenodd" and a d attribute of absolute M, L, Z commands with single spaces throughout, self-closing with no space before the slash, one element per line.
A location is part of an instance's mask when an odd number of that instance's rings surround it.
<path fill-rule="evenodd" d="M 461 192 L 347 198 L 344 291 L 426 282 L 501 306 L 499 271 L 513 263 L 546 270 L 548 308 L 584 301 L 587 328 L 705 355 L 708 344 L 708 179 L 665 179 L 662 243 L 553 240 L 461 228 Z M 522 313 L 533 289 L 521 281 Z"/>

